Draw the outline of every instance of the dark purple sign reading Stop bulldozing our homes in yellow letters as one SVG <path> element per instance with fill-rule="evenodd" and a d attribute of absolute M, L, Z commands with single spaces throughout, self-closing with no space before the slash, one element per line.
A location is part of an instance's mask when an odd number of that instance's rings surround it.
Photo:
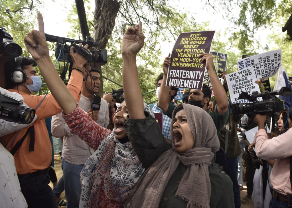
<path fill-rule="evenodd" d="M 206 62 L 200 54 L 209 53 L 215 31 L 180 33 L 173 46 L 166 86 L 202 89 Z"/>

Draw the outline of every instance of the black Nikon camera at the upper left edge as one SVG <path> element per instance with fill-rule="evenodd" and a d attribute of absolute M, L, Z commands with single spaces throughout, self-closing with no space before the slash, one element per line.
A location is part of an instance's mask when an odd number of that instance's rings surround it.
<path fill-rule="evenodd" d="M 0 27 L 0 51 L 11 58 L 22 54 L 22 48 L 13 41 L 11 34 L 6 32 L 4 27 Z"/>

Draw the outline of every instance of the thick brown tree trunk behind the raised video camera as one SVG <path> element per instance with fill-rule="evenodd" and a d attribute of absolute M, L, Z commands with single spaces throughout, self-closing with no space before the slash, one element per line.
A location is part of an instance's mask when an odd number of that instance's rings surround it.
<path fill-rule="evenodd" d="M 105 49 L 114 29 L 119 9 L 120 3 L 116 0 L 95 0 L 93 39 L 95 42 L 99 42 L 97 49 Z M 100 70 L 100 77 L 102 77 L 99 63 L 95 63 L 94 67 Z M 103 95 L 102 79 L 100 80 L 98 94 L 99 96 Z"/>

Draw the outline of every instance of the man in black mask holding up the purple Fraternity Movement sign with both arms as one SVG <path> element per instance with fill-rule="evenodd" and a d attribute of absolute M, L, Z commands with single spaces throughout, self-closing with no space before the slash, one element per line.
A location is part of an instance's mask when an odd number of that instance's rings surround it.
<path fill-rule="evenodd" d="M 203 84 L 202 90 L 194 90 L 194 89 L 190 90 L 188 104 L 203 108 L 210 114 L 216 126 L 217 135 L 218 135 L 220 130 L 226 124 L 227 119 L 228 119 L 228 115 L 229 115 L 228 100 L 227 100 L 224 87 L 222 86 L 217 74 L 215 73 L 213 69 L 213 56 L 208 53 L 203 53 L 203 54 L 200 54 L 200 57 L 201 57 L 201 63 L 206 61 L 206 69 L 209 74 L 210 81 L 213 86 L 214 96 L 215 96 L 215 99 L 217 100 L 218 105 L 215 108 L 214 112 L 210 112 L 210 110 L 208 110 L 212 91 L 205 84 Z M 168 54 L 168 57 L 165 58 L 164 63 L 163 63 L 164 76 L 162 79 L 161 89 L 159 92 L 158 106 L 159 108 L 162 109 L 162 111 L 166 115 L 168 115 L 168 117 L 171 117 L 173 109 L 175 108 L 175 105 L 168 102 L 168 92 L 170 90 L 170 87 L 166 86 L 166 79 L 167 79 L 167 72 L 168 72 L 169 65 L 170 65 L 170 53 Z"/>

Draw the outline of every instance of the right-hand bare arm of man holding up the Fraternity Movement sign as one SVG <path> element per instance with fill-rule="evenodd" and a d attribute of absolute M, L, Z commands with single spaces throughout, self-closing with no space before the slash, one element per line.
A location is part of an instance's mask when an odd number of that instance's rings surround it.
<path fill-rule="evenodd" d="M 215 99 L 217 100 L 218 103 L 217 111 L 219 114 L 224 114 L 228 110 L 228 100 L 224 87 L 213 69 L 213 56 L 208 53 L 203 53 L 200 54 L 200 57 L 201 62 L 204 62 L 206 60 L 206 69 L 210 77 Z"/>

